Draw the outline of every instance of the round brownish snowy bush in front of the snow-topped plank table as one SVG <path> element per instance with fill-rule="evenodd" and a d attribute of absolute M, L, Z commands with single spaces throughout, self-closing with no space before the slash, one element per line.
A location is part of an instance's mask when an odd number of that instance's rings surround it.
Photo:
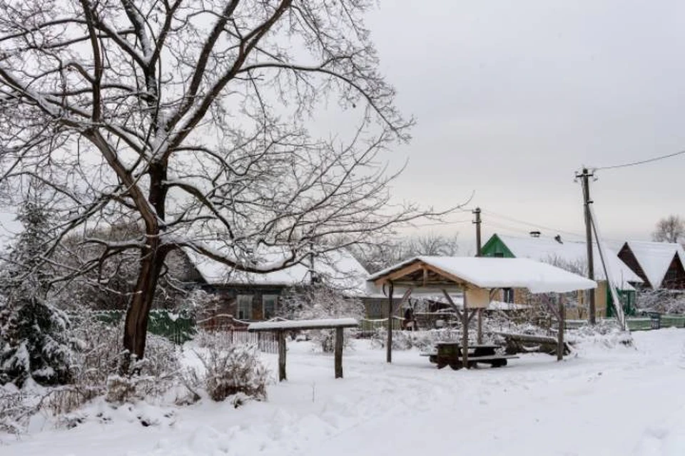
<path fill-rule="evenodd" d="M 190 390 L 202 387 L 212 400 L 233 396 L 238 407 L 247 398 L 266 399 L 269 371 L 259 359 L 259 350 L 252 344 L 228 347 L 213 346 L 196 352 L 205 372 L 190 371 L 186 385 Z"/>

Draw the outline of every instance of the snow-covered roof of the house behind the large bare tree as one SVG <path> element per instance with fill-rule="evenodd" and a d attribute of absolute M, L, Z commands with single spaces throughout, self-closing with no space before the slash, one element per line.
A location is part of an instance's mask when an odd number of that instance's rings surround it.
<path fill-rule="evenodd" d="M 280 271 L 255 274 L 236 271 L 232 267 L 198 254 L 192 249 L 185 249 L 185 252 L 208 284 L 293 286 L 307 283 L 310 280 L 308 264 L 294 264 Z M 277 261 L 273 253 L 265 254 L 264 257 L 265 261 Z M 369 273 L 346 250 L 340 249 L 318 254 L 314 259 L 313 270 L 323 283 L 353 296 L 365 296 L 365 282 Z"/>

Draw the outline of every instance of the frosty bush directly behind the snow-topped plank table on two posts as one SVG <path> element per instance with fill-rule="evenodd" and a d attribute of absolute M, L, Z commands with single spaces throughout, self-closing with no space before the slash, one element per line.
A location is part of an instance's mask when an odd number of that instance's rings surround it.
<path fill-rule="evenodd" d="M 350 298 L 325 284 L 293 286 L 283 295 L 280 316 L 298 320 L 318 318 L 364 318 L 364 305 L 359 299 Z M 355 330 L 345 329 L 343 347 L 350 348 Z M 335 348 L 335 329 L 308 331 L 324 353 L 332 353 Z"/>

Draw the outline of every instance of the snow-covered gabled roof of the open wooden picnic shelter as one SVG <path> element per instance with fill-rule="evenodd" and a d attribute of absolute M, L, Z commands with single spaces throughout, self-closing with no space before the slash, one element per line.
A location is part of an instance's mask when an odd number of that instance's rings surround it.
<path fill-rule="evenodd" d="M 526 288 L 532 293 L 585 290 L 597 283 L 551 264 L 525 258 L 415 257 L 372 274 L 382 279 L 417 261 L 480 288 Z"/>

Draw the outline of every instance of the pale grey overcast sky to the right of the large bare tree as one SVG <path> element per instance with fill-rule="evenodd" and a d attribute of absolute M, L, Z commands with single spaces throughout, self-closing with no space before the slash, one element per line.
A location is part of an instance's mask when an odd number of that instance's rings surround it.
<path fill-rule="evenodd" d="M 417 119 L 395 195 L 445 207 L 475 191 L 486 239 L 534 229 L 502 216 L 582 234 L 582 165 L 685 149 L 682 1 L 392 0 L 368 25 Z M 659 217 L 685 214 L 684 171 L 685 155 L 598 171 L 604 236 L 649 239 Z M 451 219 L 466 223 L 432 229 L 472 242 L 470 214 Z"/>

